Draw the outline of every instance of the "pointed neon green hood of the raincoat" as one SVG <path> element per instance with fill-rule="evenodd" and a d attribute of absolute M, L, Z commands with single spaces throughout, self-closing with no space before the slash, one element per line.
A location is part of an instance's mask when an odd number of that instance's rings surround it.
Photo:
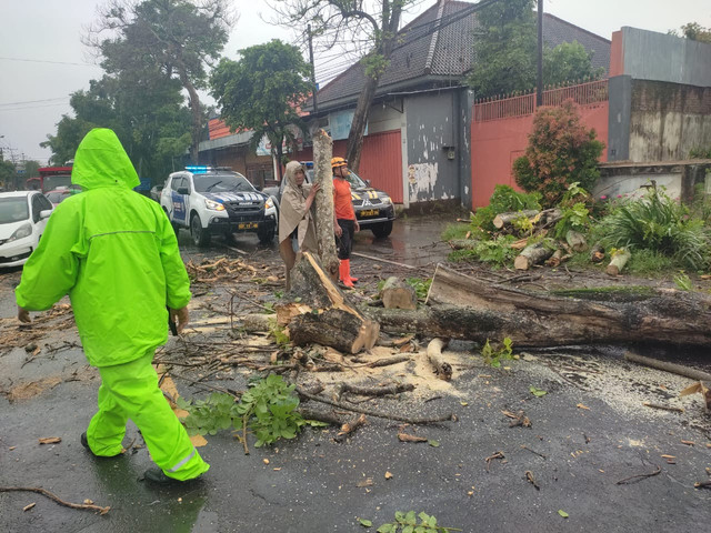
<path fill-rule="evenodd" d="M 86 191 L 114 184 L 133 189 L 140 180 L 116 133 L 96 128 L 87 133 L 77 149 L 71 182 Z"/>

